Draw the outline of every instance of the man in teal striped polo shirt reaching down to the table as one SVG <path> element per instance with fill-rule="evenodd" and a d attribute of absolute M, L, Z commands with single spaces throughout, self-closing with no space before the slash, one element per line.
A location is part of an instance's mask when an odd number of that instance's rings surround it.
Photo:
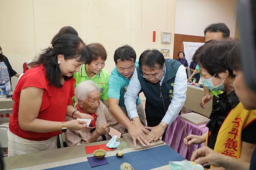
<path fill-rule="evenodd" d="M 142 131 L 136 130 L 140 127 L 135 127 L 134 124 L 132 124 L 124 105 L 126 88 L 129 85 L 135 68 L 138 66 L 134 49 L 128 45 L 116 49 L 114 52 L 114 62 L 116 63 L 116 67 L 114 67 L 109 77 L 109 111 L 116 120 L 128 130 L 132 139 L 141 141 L 140 136 L 142 136 L 142 134 L 140 133 Z M 140 121 L 143 126 L 146 126 L 145 111 L 140 97 L 138 97 L 136 104 Z M 145 128 L 143 127 L 143 129 Z"/>

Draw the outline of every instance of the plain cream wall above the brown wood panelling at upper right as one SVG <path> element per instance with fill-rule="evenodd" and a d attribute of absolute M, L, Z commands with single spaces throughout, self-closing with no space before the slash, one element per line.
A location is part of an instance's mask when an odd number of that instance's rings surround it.
<path fill-rule="evenodd" d="M 175 33 L 204 36 L 206 25 L 223 22 L 235 36 L 236 0 L 177 0 Z"/>

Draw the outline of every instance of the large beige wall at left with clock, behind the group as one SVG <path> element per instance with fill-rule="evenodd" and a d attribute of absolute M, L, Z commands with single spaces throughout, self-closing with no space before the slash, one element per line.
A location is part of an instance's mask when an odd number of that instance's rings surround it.
<path fill-rule="evenodd" d="M 22 72 L 23 62 L 47 48 L 63 26 L 74 27 L 86 44 L 100 42 L 114 67 L 114 50 L 134 47 L 137 57 L 146 49 L 169 48 L 161 44 L 161 31 L 174 33 L 176 0 L 0 0 L 0 45 L 12 67 Z M 142 4 L 142 5 L 141 5 Z M 141 15 L 142 14 L 142 15 Z M 156 42 L 152 42 L 156 31 Z M 17 78 L 12 78 L 13 86 Z"/>

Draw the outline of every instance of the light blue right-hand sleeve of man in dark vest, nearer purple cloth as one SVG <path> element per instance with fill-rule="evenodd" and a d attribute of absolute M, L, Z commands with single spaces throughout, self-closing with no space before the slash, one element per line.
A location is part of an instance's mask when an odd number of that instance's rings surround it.
<path fill-rule="evenodd" d="M 162 122 L 165 122 L 166 124 L 170 125 L 175 121 L 176 117 L 178 116 L 178 113 L 180 113 L 185 103 L 186 91 L 187 91 L 186 69 L 183 65 L 180 65 L 174 80 L 173 99 L 171 101 L 171 104 L 168 107 L 167 112 L 165 113 L 165 116 L 162 119 Z"/>

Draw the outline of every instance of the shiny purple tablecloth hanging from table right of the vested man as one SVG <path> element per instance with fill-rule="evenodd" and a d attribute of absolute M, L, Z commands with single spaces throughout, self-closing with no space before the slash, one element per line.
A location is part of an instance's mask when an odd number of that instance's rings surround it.
<path fill-rule="evenodd" d="M 191 113 L 187 113 L 191 114 Z M 206 132 L 208 132 L 208 128 L 206 127 L 206 124 L 201 125 L 194 125 L 186 120 L 184 120 L 187 134 L 193 134 L 193 135 L 203 135 Z M 176 118 L 175 122 L 167 127 L 165 138 L 163 141 L 169 145 L 171 148 L 173 148 L 175 151 L 177 151 L 180 155 L 182 155 L 187 160 L 191 159 L 193 151 L 196 149 L 203 147 L 205 143 L 201 143 L 200 145 L 190 145 L 189 151 L 188 148 L 185 147 L 183 139 L 186 137 L 184 132 L 184 127 L 182 123 L 182 118 L 179 116 Z"/>

